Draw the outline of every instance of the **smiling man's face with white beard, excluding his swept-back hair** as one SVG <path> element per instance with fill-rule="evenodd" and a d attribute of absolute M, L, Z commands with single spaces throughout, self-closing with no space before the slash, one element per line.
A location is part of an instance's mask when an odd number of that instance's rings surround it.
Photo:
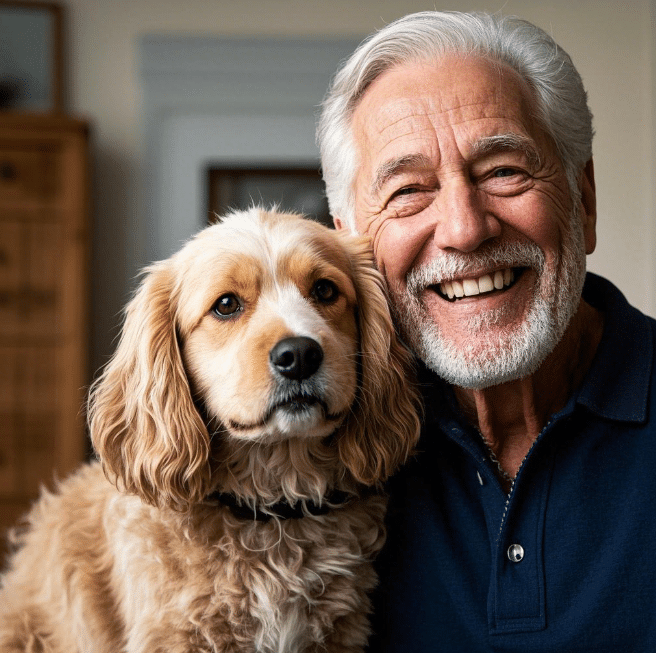
<path fill-rule="evenodd" d="M 594 220 L 514 71 L 397 66 L 353 115 L 356 226 L 409 344 L 451 383 L 531 374 L 576 311 Z"/>

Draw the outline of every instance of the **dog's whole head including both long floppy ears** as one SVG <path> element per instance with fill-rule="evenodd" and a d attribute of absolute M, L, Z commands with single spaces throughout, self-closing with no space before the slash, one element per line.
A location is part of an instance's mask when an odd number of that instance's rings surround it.
<path fill-rule="evenodd" d="M 92 388 L 91 438 L 119 487 L 179 509 L 214 489 L 210 433 L 334 433 L 337 473 L 375 484 L 418 436 L 410 370 L 368 241 L 251 209 L 146 270 Z"/>

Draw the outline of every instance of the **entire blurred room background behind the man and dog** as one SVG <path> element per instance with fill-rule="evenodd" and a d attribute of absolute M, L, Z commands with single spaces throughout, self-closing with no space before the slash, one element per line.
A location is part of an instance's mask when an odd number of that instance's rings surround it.
<path fill-rule="evenodd" d="M 522 16 L 572 56 L 596 129 L 589 267 L 656 315 L 656 0 L 2 0 L 0 528 L 84 455 L 83 388 L 138 270 L 242 200 L 325 219 L 332 73 L 433 8 Z"/>

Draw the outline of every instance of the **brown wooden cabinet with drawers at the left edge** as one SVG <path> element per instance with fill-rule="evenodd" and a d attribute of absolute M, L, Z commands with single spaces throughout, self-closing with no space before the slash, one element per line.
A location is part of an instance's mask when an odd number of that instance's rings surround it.
<path fill-rule="evenodd" d="M 85 455 L 88 205 L 87 125 L 0 113 L 3 536 Z"/>

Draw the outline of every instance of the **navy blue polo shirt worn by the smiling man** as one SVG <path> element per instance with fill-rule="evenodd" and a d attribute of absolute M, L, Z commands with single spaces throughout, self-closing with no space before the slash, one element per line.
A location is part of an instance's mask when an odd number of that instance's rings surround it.
<path fill-rule="evenodd" d="M 656 322 L 589 274 L 604 333 L 510 496 L 437 377 L 390 483 L 370 651 L 656 651 Z"/>

